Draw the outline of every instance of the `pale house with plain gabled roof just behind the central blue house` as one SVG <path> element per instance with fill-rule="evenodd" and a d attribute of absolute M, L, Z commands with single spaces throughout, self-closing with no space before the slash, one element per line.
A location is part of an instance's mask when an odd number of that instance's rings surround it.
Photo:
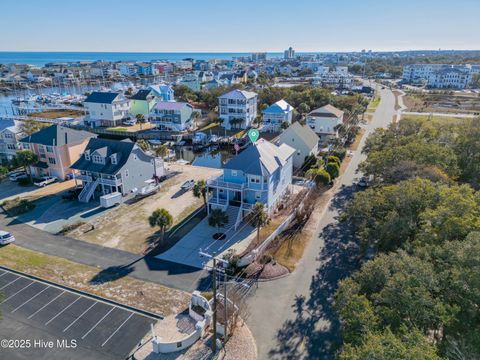
<path fill-rule="evenodd" d="M 286 144 L 295 149 L 293 154 L 293 167 L 300 168 L 305 158 L 311 154 L 317 155 L 319 137 L 307 125 L 294 122 L 278 139 L 278 144 Z"/>

